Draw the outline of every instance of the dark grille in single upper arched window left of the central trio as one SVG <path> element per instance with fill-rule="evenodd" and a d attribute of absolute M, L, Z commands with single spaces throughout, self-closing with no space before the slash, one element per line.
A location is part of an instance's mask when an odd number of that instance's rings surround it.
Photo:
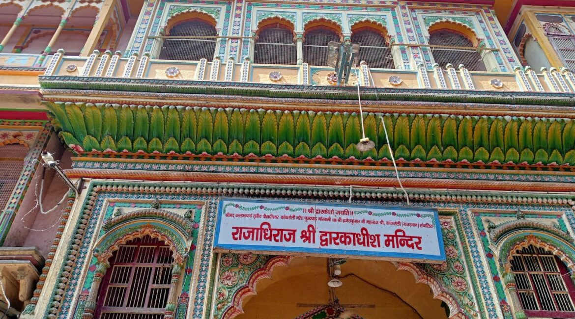
<path fill-rule="evenodd" d="M 186 21 L 177 24 L 170 30 L 170 37 L 215 37 L 217 30 L 213 25 L 199 20 Z M 164 41 L 160 59 L 199 61 L 206 59 L 212 61 L 216 52 L 216 38 L 168 38 Z"/>

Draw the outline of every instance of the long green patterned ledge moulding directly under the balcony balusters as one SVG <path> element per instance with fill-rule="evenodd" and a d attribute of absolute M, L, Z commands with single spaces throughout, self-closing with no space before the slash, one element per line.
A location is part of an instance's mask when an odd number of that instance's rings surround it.
<path fill-rule="evenodd" d="M 132 59 L 132 57 L 131 57 Z M 216 61 L 214 59 L 214 61 Z M 215 68 L 214 68 L 215 67 Z M 212 77 L 217 70 L 217 64 L 212 64 Z M 453 69 L 453 71 L 451 71 Z M 128 69 L 127 71 L 131 71 Z M 457 73 L 453 66 L 448 69 L 453 80 L 457 80 Z M 43 89 L 83 89 L 114 90 L 129 92 L 166 92 L 166 93 L 197 93 L 228 94 L 230 90 L 241 88 L 245 91 L 234 90 L 237 95 L 264 96 L 268 98 L 322 98 L 327 93 L 331 99 L 357 98 L 354 87 L 326 86 L 326 85 L 298 85 L 298 84 L 270 84 L 270 83 L 244 83 L 237 81 L 197 81 L 197 80 L 168 80 L 168 79 L 117 79 L 106 77 L 83 76 L 39 76 Z M 461 88 L 459 81 L 455 88 Z M 206 91 L 208 90 L 208 91 Z M 355 89 L 357 90 L 357 89 Z M 467 103 L 488 102 L 492 104 L 546 104 L 559 106 L 575 106 L 575 94 L 562 92 L 502 92 L 479 90 L 439 90 L 425 88 L 375 88 L 362 87 L 362 100 L 402 100 L 417 98 L 425 102 L 459 102 L 466 99 Z"/>

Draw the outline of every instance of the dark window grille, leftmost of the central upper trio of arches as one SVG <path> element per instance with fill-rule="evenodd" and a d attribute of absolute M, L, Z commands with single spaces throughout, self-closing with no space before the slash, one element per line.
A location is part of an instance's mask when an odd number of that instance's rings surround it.
<path fill-rule="evenodd" d="M 254 63 L 296 64 L 297 48 L 293 33 L 285 28 L 263 29 L 255 42 Z"/>

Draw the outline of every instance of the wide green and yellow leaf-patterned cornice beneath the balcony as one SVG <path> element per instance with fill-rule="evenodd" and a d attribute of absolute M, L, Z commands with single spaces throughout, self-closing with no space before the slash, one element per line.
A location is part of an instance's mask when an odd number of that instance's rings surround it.
<path fill-rule="evenodd" d="M 45 103 L 60 137 L 85 151 L 575 165 L 575 121 L 515 116 Z"/>

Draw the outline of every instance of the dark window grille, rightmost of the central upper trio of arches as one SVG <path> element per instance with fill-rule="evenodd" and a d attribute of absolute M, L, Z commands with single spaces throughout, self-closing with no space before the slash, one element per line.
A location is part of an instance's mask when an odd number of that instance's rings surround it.
<path fill-rule="evenodd" d="M 366 61 L 370 68 L 394 69 L 392 52 L 378 32 L 361 30 L 351 34 L 352 43 L 361 43 L 359 61 Z"/>

